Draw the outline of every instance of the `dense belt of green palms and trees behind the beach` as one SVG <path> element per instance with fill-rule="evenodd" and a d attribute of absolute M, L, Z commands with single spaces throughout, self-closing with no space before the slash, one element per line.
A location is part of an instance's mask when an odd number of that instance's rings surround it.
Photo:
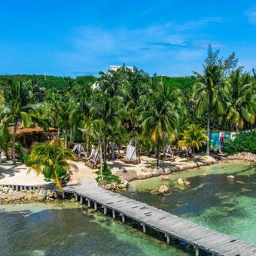
<path fill-rule="evenodd" d="M 212 129 L 255 127 L 255 72 L 244 72 L 237 64 L 234 53 L 225 59 L 209 47 L 203 72 L 184 78 L 151 76 L 126 66 L 100 72 L 99 78 L 0 76 L 2 151 L 15 163 L 17 130 L 41 126 L 58 130 L 64 149 L 83 143 L 90 151 L 96 145 L 102 153 L 100 172 L 109 142 L 139 142 L 145 154 L 155 153 L 157 166 L 167 145 L 178 151 L 179 145 L 190 145 L 195 151 L 207 143 L 209 154 L 210 140 L 202 129 L 209 136 Z"/>

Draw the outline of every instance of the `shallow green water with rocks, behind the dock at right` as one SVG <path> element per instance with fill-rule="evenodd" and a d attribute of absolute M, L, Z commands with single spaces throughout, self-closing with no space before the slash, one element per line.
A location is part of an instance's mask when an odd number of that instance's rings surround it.
<path fill-rule="evenodd" d="M 203 173 L 205 177 L 201 176 Z M 235 176 L 234 180 L 227 178 L 230 174 Z M 161 178 L 170 178 L 170 181 L 162 181 Z M 190 181 L 190 186 L 178 186 L 178 178 Z M 169 196 L 149 193 L 163 184 L 170 188 L 172 193 Z M 256 166 L 253 163 L 233 160 L 133 181 L 126 196 L 256 243 Z"/>

